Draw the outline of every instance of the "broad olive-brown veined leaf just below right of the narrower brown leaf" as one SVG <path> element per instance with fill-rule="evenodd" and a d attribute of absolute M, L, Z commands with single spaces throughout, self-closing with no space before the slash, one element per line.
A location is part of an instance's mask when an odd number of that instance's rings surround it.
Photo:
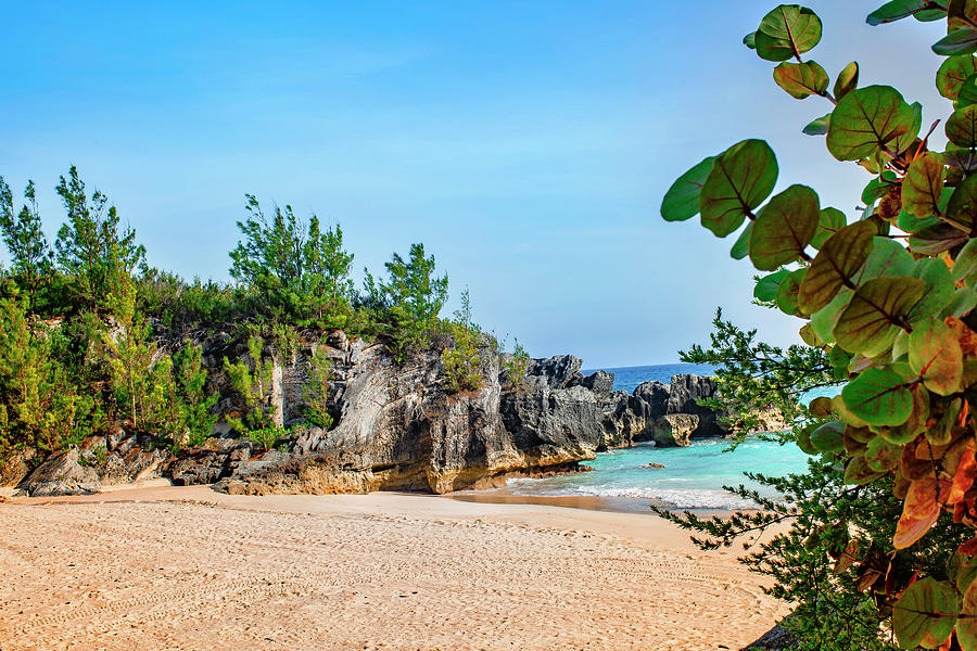
<path fill-rule="evenodd" d="M 883 276 L 866 281 L 838 318 L 835 341 L 865 357 L 884 353 L 925 288 L 926 283 L 915 278 Z"/>

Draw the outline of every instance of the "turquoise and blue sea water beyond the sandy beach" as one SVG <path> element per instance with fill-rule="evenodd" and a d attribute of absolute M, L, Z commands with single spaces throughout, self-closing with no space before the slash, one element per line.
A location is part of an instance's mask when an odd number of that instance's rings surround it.
<path fill-rule="evenodd" d="M 595 370 L 598 369 L 584 372 Z M 614 388 L 629 393 L 649 380 L 668 383 L 676 373 L 708 375 L 713 371 L 711 367 L 690 363 L 599 370 L 614 373 Z M 751 436 L 732 452 L 725 451 L 728 447 L 726 441 L 702 441 L 680 448 L 640 445 L 611 450 L 588 462 L 593 472 L 510 480 L 500 490 L 521 496 L 595 496 L 626 510 L 647 510 L 649 501 L 677 509 L 727 510 L 754 505 L 723 490 L 724 485 L 745 484 L 776 497 L 748 481 L 744 471 L 777 476 L 807 469 L 808 456 L 792 444 L 782 446 Z M 664 468 L 643 468 L 648 463 Z"/>

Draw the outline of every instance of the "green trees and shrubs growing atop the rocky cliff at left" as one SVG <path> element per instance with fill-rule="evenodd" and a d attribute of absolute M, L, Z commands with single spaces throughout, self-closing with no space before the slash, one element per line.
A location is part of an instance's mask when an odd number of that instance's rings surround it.
<path fill-rule="evenodd" d="M 495 340 L 471 322 L 467 292 L 462 320 L 440 318 L 448 280 L 422 244 L 407 258 L 393 254 L 386 278 L 367 271 L 356 291 L 339 226 L 306 222 L 288 205 L 266 214 L 246 195 L 241 241 L 230 252 L 234 282 L 185 281 L 149 267 L 136 232 L 105 194 L 89 193 L 76 168 L 56 191 L 65 220 L 51 244 L 35 183 L 17 208 L 0 177 L 10 254 L 0 269 L 0 461 L 23 446 L 51 452 L 119 425 L 157 445 L 201 445 L 217 397 L 194 340 L 218 330 L 249 347 L 246 360 L 225 365 L 244 407 L 228 422 L 266 449 L 284 433 L 275 424 L 267 356 L 290 355 L 299 328 L 381 341 L 399 362 L 436 343 L 452 388 L 481 383 L 478 347 Z M 307 417 L 329 427 L 329 359 L 320 354 L 312 365 Z"/>

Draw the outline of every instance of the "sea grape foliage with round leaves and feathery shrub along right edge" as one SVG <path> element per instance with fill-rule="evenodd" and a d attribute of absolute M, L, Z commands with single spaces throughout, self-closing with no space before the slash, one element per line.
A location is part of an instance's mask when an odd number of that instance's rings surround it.
<path fill-rule="evenodd" d="M 779 5 L 744 42 L 776 64 L 783 90 L 828 104 L 803 132 L 870 174 L 864 207 L 846 215 L 801 184 L 771 196 L 777 161 L 762 140 L 705 158 L 661 207 L 668 220 L 699 214 L 718 237 L 738 233 L 733 257 L 764 272 L 758 302 L 803 322 L 805 345 L 781 349 L 718 316 L 711 345 L 685 359 L 723 366 L 716 405 L 737 416 L 782 407 L 794 421 L 783 441 L 811 455 L 809 472 L 756 477 L 781 501 L 734 489 L 759 512 L 665 515 L 705 547 L 788 523 L 744 560 L 794 603 L 788 626 L 804 649 L 977 650 L 977 2 L 893 0 L 867 21 L 909 17 L 948 24 L 932 46 L 952 103 L 944 151 L 929 146 L 939 120 L 924 130 L 918 103 L 860 87 L 857 63 L 832 86 L 804 58 L 820 18 Z M 800 401 L 833 383 L 843 385 L 834 399 Z"/>

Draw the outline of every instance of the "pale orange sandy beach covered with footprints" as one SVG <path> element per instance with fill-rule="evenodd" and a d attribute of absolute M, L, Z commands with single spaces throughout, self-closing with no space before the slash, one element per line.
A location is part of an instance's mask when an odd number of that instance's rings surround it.
<path fill-rule="evenodd" d="M 0 503 L 0 649 L 739 649 L 786 613 L 648 514 L 153 487 Z"/>

